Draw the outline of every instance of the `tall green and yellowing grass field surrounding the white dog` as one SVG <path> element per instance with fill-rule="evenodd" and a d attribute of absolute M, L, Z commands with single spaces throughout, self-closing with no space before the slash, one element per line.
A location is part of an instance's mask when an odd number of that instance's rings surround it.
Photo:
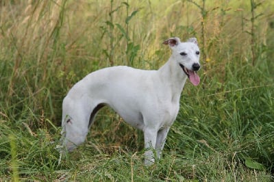
<path fill-rule="evenodd" d="M 273 181 L 274 1 L 0 1 L 0 181 Z M 158 69 L 197 37 L 163 157 L 111 109 L 60 156 L 62 99 L 107 66 Z M 145 94 L 145 93 L 144 93 Z M 58 163 L 60 161 L 60 164 Z"/>

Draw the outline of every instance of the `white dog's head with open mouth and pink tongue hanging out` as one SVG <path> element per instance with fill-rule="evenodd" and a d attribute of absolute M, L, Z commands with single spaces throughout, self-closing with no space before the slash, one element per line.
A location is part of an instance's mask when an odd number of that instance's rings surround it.
<path fill-rule="evenodd" d="M 200 50 L 196 38 L 190 38 L 187 42 L 181 42 L 179 38 L 169 38 L 163 44 L 168 44 L 173 50 L 173 60 L 182 68 L 184 74 L 188 76 L 190 82 L 197 86 L 200 78 L 197 71 L 200 69 Z"/>

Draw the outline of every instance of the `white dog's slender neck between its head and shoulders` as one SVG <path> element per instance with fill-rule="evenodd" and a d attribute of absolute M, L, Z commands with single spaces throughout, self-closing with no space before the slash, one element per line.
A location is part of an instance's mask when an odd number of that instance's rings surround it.
<path fill-rule="evenodd" d="M 174 99 L 179 99 L 187 79 L 187 75 L 183 72 L 182 68 L 170 57 L 169 61 L 158 72 L 164 85 L 171 90 L 173 97 L 175 97 Z"/>

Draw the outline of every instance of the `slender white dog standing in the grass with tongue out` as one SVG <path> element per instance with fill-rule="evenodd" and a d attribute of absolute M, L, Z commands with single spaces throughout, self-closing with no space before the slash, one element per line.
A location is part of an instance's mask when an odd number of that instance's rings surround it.
<path fill-rule="evenodd" d="M 197 86 L 199 47 L 196 38 L 164 41 L 172 49 L 169 61 L 159 70 L 127 66 L 103 68 L 90 73 L 69 90 L 63 101 L 62 134 L 71 151 L 84 142 L 95 115 L 108 105 L 129 125 L 144 132 L 145 164 L 160 158 L 166 135 L 179 111 L 186 79 Z"/>

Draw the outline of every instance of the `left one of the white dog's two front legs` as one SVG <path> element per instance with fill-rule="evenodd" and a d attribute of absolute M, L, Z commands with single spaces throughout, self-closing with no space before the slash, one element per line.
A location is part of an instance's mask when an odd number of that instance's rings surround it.
<path fill-rule="evenodd" d="M 154 163 L 154 151 L 158 131 L 155 129 L 145 129 L 145 165 L 149 166 Z"/>

